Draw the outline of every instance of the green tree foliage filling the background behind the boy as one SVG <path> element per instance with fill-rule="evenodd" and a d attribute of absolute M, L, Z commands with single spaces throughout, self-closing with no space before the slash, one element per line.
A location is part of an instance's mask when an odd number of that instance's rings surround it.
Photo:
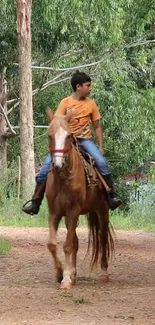
<path fill-rule="evenodd" d="M 16 1 L 0 3 L 0 70 L 7 67 L 8 98 L 18 98 Z M 154 154 L 155 5 L 150 0 L 32 1 L 32 61 L 54 69 L 98 62 L 85 69 L 93 79 L 92 97 L 100 106 L 105 153 L 117 178 L 133 172 Z M 144 41 L 146 44 L 141 44 Z M 84 70 L 84 69 L 82 69 Z M 33 70 L 33 89 L 57 78 L 56 71 Z M 47 125 L 45 109 L 55 111 L 71 93 L 69 80 L 34 96 L 34 123 Z M 9 115 L 19 125 L 19 110 Z M 35 129 L 36 164 L 47 153 L 46 129 Z M 19 133 L 8 141 L 10 164 L 19 155 Z M 18 171 L 16 171 L 18 173 Z M 128 208 L 128 188 L 119 186 Z M 124 194 L 125 193 L 125 194 Z"/>

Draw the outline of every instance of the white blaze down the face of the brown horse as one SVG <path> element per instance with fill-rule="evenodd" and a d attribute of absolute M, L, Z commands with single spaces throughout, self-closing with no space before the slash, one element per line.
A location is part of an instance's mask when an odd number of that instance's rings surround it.
<path fill-rule="evenodd" d="M 55 149 L 61 150 L 64 149 L 65 146 L 65 140 L 68 135 L 68 132 L 63 129 L 62 127 L 59 128 L 59 130 L 55 134 Z M 62 167 L 64 159 L 63 159 L 63 152 L 56 152 L 53 155 L 53 162 L 54 165 L 57 167 Z"/>

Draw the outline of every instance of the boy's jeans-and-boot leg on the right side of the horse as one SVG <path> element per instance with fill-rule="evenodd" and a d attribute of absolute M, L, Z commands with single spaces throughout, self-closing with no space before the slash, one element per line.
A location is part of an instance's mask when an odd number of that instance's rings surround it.
<path fill-rule="evenodd" d="M 104 180 L 106 181 L 107 185 L 111 188 L 111 192 L 107 193 L 106 197 L 109 203 L 109 207 L 114 210 L 121 205 L 121 201 L 114 198 L 113 193 L 113 181 L 112 176 L 108 167 L 108 163 L 106 158 L 102 155 L 99 148 L 93 141 L 93 139 L 78 139 L 78 142 L 82 146 L 85 152 L 87 152 L 90 156 L 93 157 L 96 167 L 99 172 L 102 174 Z"/>

